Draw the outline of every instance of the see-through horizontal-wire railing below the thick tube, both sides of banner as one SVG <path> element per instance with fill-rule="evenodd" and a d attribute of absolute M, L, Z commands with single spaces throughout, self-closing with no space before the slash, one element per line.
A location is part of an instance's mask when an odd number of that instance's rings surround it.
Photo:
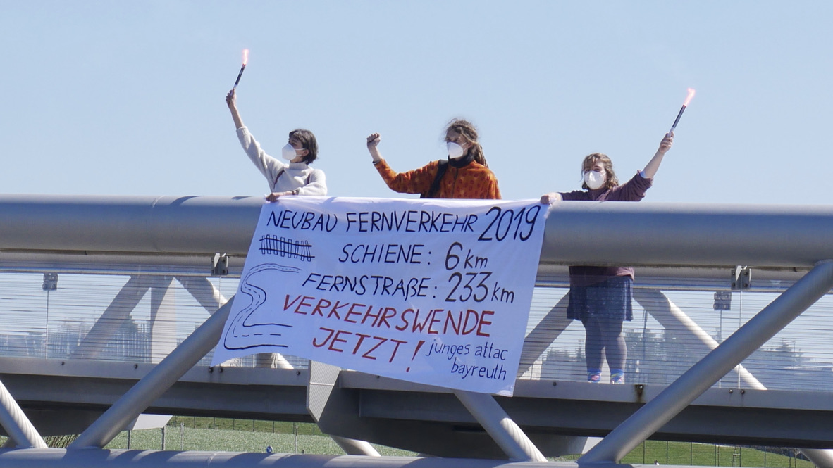
<path fill-rule="evenodd" d="M 0 268 L 0 356 L 159 362 L 231 297 L 236 275 L 210 277 L 197 268 L 176 274 L 149 268 L 82 272 L 77 265 L 16 264 Z M 32 271 L 27 271 L 31 269 Z M 207 268 L 202 268 L 207 269 Z M 566 319 L 566 268 L 541 268 L 527 323 L 518 378 L 586 380 L 585 331 Z M 561 271 L 563 270 L 563 271 Z M 622 334 L 628 383 L 665 386 L 776 298 L 795 272 L 766 272 L 749 288 L 731 288 L 731 268 L 692 277 L 637 268 L 633 319 Z M 725 273 L 724 278 L 716 277 Z M 781 278 L 781 279 L 776 279 Z M 199 288 L 195 288 L 194 284 Z M 202 292 L 212 300 L 195 297 Z M 822 298 L 730 372 L 718 387 L 824 392 L 833 384 L 833 297 Z M 92 333 L 91 333 L 92 331 Z M 200 365 L 208 366 L 211 355 Z M 286 357 L 292 367 L 307 360 Z M 262 364 L 261 364 L 262 365 Z M 226 367 L 257 367 L 243 357 Z M 606 382 L 607 367 L 602 382 Z"/>

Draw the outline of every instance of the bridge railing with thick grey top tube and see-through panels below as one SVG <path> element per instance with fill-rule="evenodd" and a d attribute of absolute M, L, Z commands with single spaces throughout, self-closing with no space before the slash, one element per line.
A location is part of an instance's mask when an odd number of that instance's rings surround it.
<path fill-rule="evenodd" d="M 0 356 L 160 361 L 234 293 L 262 203 L 0 195 Z M 627 382 L 664 385 L 833 259 L 831 232 L 821 206 L 555 205 L 519 377 L 586 380 L 584 331 L 564 313 L 567 265 L 636 266 Z M 218 258 L 228 273 L 212 276 Z M 828 294 L 716 385 L 830 388 L 830 307 Z"/>

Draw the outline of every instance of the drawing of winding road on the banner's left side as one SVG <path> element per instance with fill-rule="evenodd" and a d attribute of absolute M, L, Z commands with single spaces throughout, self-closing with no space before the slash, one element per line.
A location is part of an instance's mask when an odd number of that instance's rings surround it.
<path fill-rule="evenodd" d="M 247 349 L 259 346 L 287 347 L 282 344 L 283 333 L 292 325 L 276 323 L 277 306 L 267 304 L 266 290 L 257 284 L 285 281 L 283 273 L 299 273 L 301 268 L 279 264 L 260 264 L 249 270 L 240 281 L 240 292 L 251 298 L 251 303 L 235 315 L 222 346 L 226 349 Z M 238 298 L 242 298 L 238 294 Z M 236 301 L 238 299 L 235 299 Z"/>

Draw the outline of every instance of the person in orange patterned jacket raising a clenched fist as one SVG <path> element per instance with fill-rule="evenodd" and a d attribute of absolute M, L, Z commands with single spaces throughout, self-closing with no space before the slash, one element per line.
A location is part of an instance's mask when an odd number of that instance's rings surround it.
<path fill-rule="evenodd" d="M 419 169 L 397 173 L 379 152 L 381 135 L 367 136 L 373 165 L 391 190 L 422 198 L 500 200 L 497 178 L 489 170 L 477 130 L 471 122 L 454 119 L 446 127 L 448 160 L 431 161 Z M 438 176 L 439 175 L 439 179 Z"/>

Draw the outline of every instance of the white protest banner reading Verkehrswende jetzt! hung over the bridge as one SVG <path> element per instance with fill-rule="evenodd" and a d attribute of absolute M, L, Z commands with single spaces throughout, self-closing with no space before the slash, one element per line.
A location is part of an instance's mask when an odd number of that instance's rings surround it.
<path fill-rule="evenodd" d="M 511 395 L 546 208 L 537 200 L 264 204 L 212 365 L 280 352 Z"/>

